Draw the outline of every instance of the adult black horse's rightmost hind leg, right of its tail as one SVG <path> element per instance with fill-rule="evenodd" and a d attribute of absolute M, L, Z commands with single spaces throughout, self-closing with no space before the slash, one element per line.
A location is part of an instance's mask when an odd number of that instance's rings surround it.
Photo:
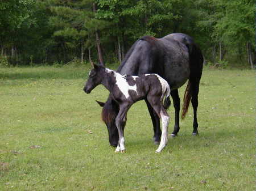
<path fill-rule="evenodd" d="M 197 123 L 197 107 L 198 107 L 198 93 L 199 93 L 199 83 L 200 79 L 191 80 L 191 103 L 193 106 L 194 120 L 193 120 L 193 132 L 192 135 L 197 135 L 198 123 Z"/>

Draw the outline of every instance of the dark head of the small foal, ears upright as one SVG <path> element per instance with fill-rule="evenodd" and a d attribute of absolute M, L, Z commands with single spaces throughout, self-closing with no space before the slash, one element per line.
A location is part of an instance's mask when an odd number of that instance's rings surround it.
<path fill-rule="evenodd" d="M 92 63 L 92 66 L 93 69 L 90 70 L 89 78 L 84 86 L 86 94 L 90 94 L 94 87 L 98 86 L 102 82 L 106 73 L 105 67 L 95 65 L 94 63 Z"/>

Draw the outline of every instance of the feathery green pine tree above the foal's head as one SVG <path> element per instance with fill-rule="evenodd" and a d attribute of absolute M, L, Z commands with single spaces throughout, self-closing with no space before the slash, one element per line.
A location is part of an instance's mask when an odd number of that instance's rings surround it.
<path fill-rule="evenodd" d="M 97 43 L 95 32 L 107 25 L 106 22 L 95 18 L 94 2 L 51 0 L 49 3 L 53 14 L 49 22 L 55 27 L 53 35 L 62 44 L 63 55 L 67 55 L 67 49 L 74 50 L 79 45 L 81 61 L 84 60 L 85 48 L 89 50 L 90 59 L 90 48 Z M 103 62 L 102 59 L 101 61 Z"/>

